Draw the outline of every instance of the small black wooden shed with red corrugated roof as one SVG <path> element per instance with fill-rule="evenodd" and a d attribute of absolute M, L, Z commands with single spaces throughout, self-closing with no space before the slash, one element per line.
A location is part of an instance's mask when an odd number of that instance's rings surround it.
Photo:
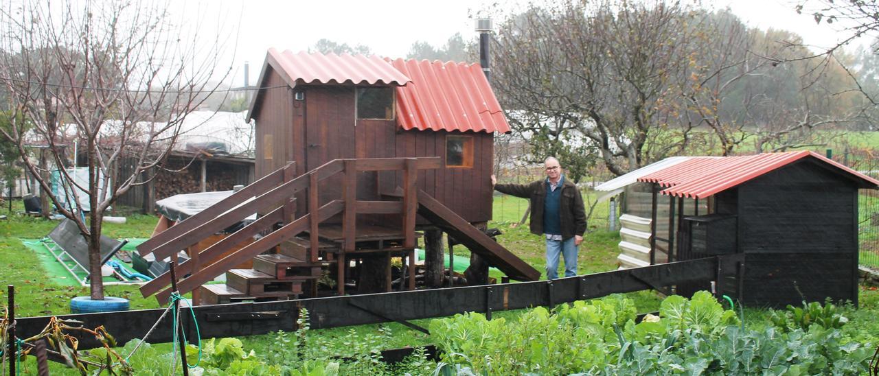
<path fill-rule="evenodd" d="M 682 199 L 707 203 L 707 212 L 678 217 L 670 258 L 744 253 L 744 304 L 857 304 L 859 190 L 879 187 L 874 178 L 797 151 L 692 158 L 637 180 L 668 196 L 671 207 Z M 686 293 L 710 286 L 679 287 Z"/>

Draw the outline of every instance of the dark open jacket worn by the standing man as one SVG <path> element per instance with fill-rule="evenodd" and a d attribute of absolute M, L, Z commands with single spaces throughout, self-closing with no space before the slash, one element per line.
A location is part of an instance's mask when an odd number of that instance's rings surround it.
<path fill-rule="evenodd" d="M 531 232 L 543 234 L 543 203 L 547 196 L 546 179 L 531 184 L 496 184 L 495 190 L 522 199 L 531 200 Z M 559 213 L 562 216 L 562 238 L 567 240 L 574 235 L 583 236 L 586 232 L 586 212 L 583 197 L 568 179 L 562 183 Z"/>

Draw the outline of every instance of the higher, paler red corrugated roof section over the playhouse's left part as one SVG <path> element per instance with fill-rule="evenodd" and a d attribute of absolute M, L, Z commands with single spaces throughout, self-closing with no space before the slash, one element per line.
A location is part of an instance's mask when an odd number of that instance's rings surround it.
<path fill-rule="evenodd" d="M 269 48 L 268 59 L 277 63 L 279 73 L 286 74 L 288 82 L 301 83 L 383 83 L 404 85 L 409 77 L 391 67 L 378 56 L 362 54 L 320 54 L 301 51 L 282 53 Z M 292 83 L 291 83 L 292 84 Z"/>

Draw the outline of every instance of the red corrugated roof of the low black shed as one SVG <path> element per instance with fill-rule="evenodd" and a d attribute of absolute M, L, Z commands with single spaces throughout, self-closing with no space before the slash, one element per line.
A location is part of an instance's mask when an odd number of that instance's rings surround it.
<path fill-rule="evenodd" d="M 807 157 L 816 158 L 822 163 L 827 163 L 841 172 L 860 179 L 865 187 L 879 186 L 879 180 L 849 169 L 843 164 L 836 163 L 824 155 L 812 151 L 698 157 L 658 170 L 639 178 L 638 181 L 657 183 L 660 186 L 668 187 L 662 191 L 663 194 L 704 199 Z"/>

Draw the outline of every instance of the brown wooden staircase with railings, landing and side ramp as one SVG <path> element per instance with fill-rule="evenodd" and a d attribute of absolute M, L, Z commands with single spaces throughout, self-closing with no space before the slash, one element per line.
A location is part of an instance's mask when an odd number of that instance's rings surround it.
<path fill-rule="evenodd" d="M 142 256 L 176 257 L 210 235 L 242 221 L 252 213 L 265 213 L 247 226 L 213 245 L 193 252 L 190 260 L 178 264 L 180 293 L 200 295 L 200 303 L 216 304 L 237 300 L 284 300 L 296 298 L 309 286 L 316 296 L 316 278 L 324 268 L 335 266 L 338 294 L 345 294 L 345 276 L 350 258 L 383 253 L 408 258 L 409 288 L 415 288 L 414 249 L 417 213 L 453 234 L 471 250 L 485 255 L 511 278 L 534 280 L 540 272 L 490 240 L 468 222 L 432 199 L 416 186 L 418 170 L 441 167 L 438 157 L 338 159 L 325 163 L 299 177 L 294 165 L 260 178 L 214 206 L 153 236 L 137 247 Z M 401 197 L 388 201 L 356 199 L 360 171 L 402 170 Z M 342 192 L 328 200 L 318 194 L 322 180 L 342 175 Z M 308 213 L 295 218 L 294 200 L 307 192 Z M 323 199 L 323 201 L 321 201 Z M 323 205 L 320 203 L 323 202 Z M 341 224 L 324 223 L 341 214 Z M 357 224 L 358 214 L 400 215 L 402 228 L 381 230 Z M 262 235 L 259 237 L 258 235 Z M 480 236 L 481 235 L 481 236 Z M 307 236 L 307 237 L 306 237 Z M 488 238 L 486 241 L 484 238 Z M 242 261 L 253 260 L 252 269 L 234 269 Z M 177 260 L 175 260 L 177 261 Z M 226 285 L 202 285 L 223 273 Z M 164 303 L 171 295 L 171 276 L 165 273 L 141 287 L 144 296 L 156 294 Z M 390 278 L 388 278 L 388 286 Z"/>

